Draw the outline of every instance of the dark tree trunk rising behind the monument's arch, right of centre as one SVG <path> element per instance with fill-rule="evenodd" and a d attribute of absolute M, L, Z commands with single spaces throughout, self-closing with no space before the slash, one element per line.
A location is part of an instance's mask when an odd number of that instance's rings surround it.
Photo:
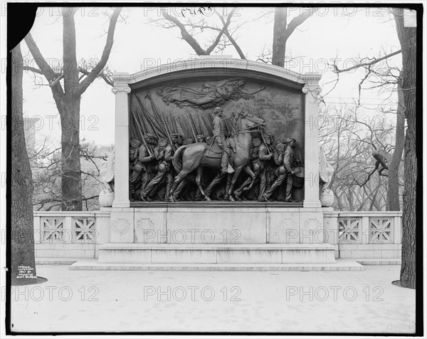
<path fill-rule="evenodd" d="M 286 21 L 288 19 L 287 7 L 276 7 L 273 26 L 273 56 L 271 63 L 275 66 L 285 67 Z"/>

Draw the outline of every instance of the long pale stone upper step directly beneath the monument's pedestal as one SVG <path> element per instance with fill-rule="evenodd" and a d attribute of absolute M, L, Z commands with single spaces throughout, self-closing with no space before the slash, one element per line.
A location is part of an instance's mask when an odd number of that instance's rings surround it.
<path fill-rule="evenodd" d="M 100 264 L 334 264 L 330 244 L 102 244 Z"/>

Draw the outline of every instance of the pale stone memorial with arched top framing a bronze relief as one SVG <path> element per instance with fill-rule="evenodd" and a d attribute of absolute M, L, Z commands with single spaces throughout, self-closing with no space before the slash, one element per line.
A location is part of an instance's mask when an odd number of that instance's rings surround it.
<path fill-rule="evenodd" d="M 98 263 L 334 264 L 320 78 L 209 56 L 113 75 L 114 201 Z"/>

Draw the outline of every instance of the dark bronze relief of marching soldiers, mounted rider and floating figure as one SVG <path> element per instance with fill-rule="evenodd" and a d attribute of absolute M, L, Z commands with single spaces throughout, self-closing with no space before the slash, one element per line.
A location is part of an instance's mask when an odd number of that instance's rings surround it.
<path fill-rule="evenodd" d="M 149 92 L 144 97 L 134 95 L 132 201 L 294 202 L 293 168 L 300 165 L 295 139 L 274 145 L 274 135 L 265 132 L 265 120 L 255 116 L 251 107 L 238 113 L 221 108 L 227 100 L 248 100 L 265 89 L 260 85 L 248 90 L 244 85 L 243 79 L 231 78 L 194 87 L 168 85 L 156 98 Z M 174 103 L 180 112 L 168 116 L 157 107 L 159 100 Z M 201 113 L 191 114 L 186 107 Z"/>

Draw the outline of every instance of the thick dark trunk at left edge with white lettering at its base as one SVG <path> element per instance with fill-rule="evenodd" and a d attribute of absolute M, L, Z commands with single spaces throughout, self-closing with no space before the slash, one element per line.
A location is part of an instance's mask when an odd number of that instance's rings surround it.
<path fill-rule="evenodd" d="M 12 50 L 11 68 L 11 284 L 36 283 L 33 227 L 33 182 L 23 132 L 23 59 Z"/>

